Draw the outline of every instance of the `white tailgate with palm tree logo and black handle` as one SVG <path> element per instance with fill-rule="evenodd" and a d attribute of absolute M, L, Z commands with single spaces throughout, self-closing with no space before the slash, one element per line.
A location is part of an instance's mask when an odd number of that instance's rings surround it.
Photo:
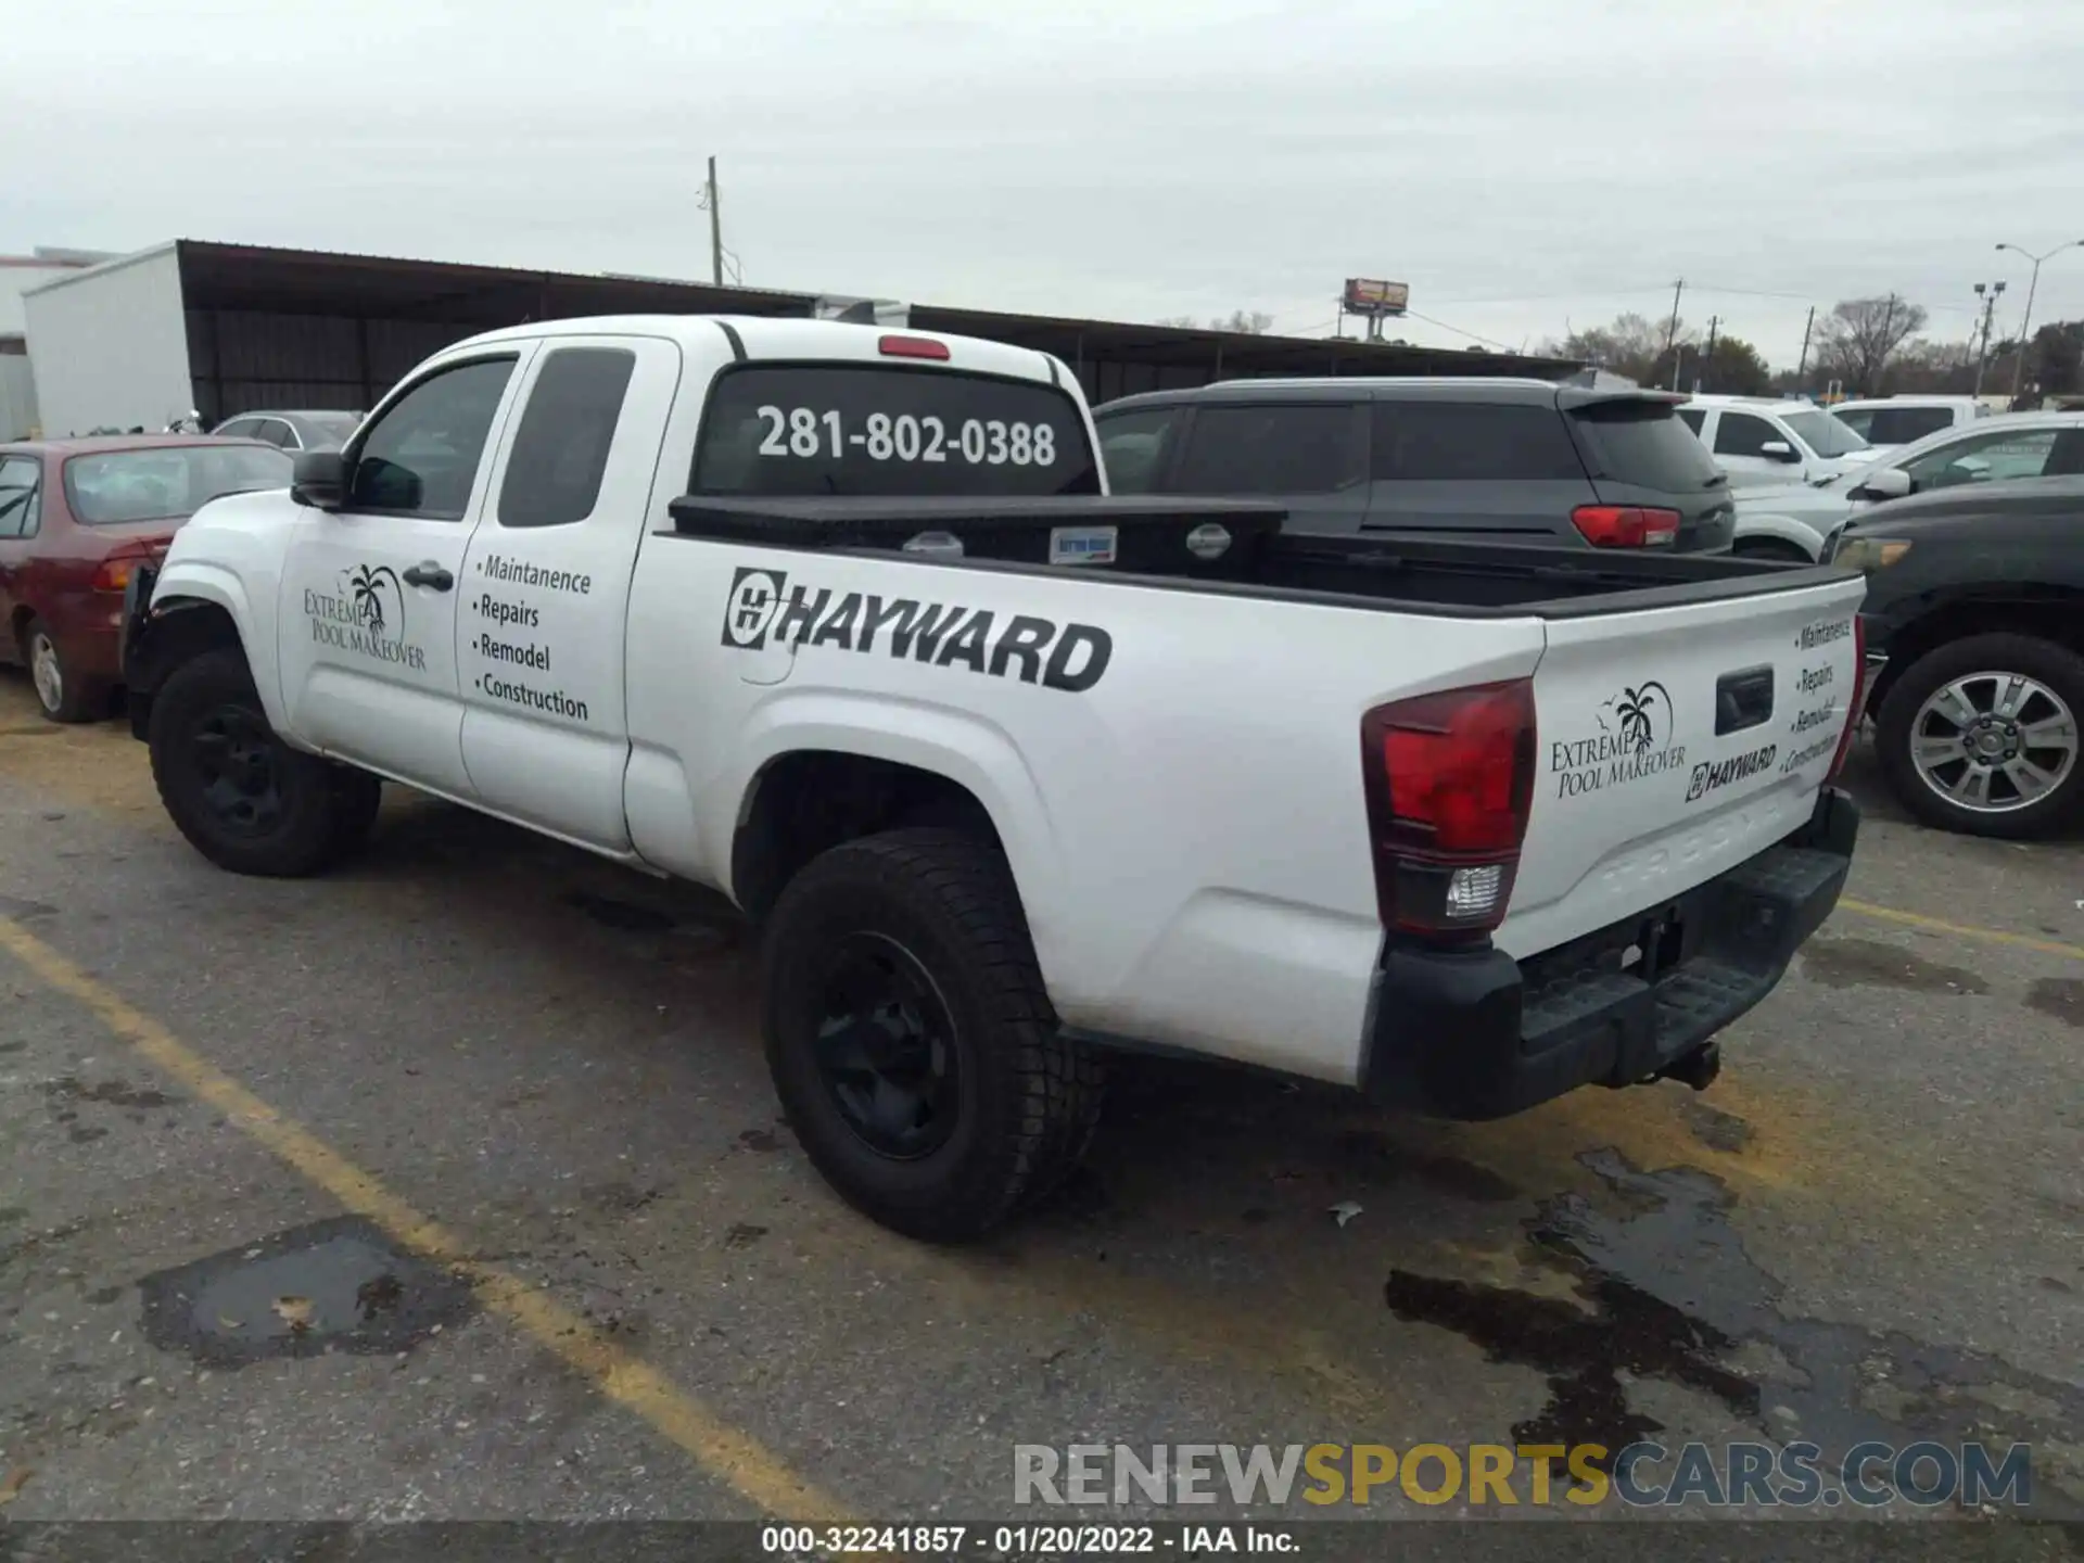
<path fill-rule="evenodd" d="M 1565 944 L 1809 819 L 1855 698 L 1861 579 L 1548 621 L 1534 809 L 1498 948 Z"/>

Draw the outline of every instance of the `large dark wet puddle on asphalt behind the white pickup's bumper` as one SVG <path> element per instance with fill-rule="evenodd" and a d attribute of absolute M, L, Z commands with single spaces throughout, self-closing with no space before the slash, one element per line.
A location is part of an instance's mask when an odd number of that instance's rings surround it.
<path fill-rule="evenodd" d="M 1640 1171 L 1611 1148 L 1580 1161 L 1611 1198 L 1563 1194 L 1525 1223 L 1536 1259 L 1573 1277 L 1576 1300 L 1405 1269 L 1384 1288 L 1398 1319 L 1453 1330 L 1490 1361 L 1546 1375 L 1546 1405 L 1515 1423 L 1519 1440 L 1617 1450 L 1661 1432 L 1630 1403 L 1632 1380 L 1692 1388 L 1761 1434 L 1813 1440 L 1830 1459 L 1869 1438 L 2055 1446 L 2084 1428 L 2076 1384 L 1901 1332 L 1788 1317 L 1780 1282 L 1730 1225 L 1719 1180 L 1692 1167 Z M 1757 1359 L 1773 1367 L 1742 1367 Z M 2057 1488 L 2053 1473 L 2036 1478 Z"/>

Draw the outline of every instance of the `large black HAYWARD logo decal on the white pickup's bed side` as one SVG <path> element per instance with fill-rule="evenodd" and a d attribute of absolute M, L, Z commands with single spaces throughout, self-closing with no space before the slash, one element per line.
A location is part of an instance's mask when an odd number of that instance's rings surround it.
<path fill-rule="evenodd" d="M 992 609 L 965 609 L 873 592 L 834 598 L 827 586 L 790 586 L 788 571 L 742 565 L 723 602 L 723 644 L 734 650 L 829 646 L 884 652 L 932 667 L 967 667 L 1080 694 L 1107 673 L 1115 638 L 1098 625 Z"/>

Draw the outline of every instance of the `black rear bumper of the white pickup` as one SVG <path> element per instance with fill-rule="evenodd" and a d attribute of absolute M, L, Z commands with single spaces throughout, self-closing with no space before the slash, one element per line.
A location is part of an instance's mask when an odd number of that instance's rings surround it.
<path fill-rule="evenodd" d="M 1390 946 L 1361 1090 L 1455 1119 L 1578 1086 L 1711 1073 L 1703 1050 L 1773 990 L 1844 890 L 1859 804 L 1824 788 L 1809 823 L 1717 879 L 1530 961 Z"/>

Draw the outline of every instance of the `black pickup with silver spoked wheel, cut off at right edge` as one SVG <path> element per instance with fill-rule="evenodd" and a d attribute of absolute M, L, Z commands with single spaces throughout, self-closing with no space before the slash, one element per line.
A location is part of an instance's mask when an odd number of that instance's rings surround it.
<path fill-rule="evenodd" d="M 2084 477 L 1974 483 L 1863 511 L 1867 715 L 1903 804 L 2024 840 L 2084 815 Z"/>

